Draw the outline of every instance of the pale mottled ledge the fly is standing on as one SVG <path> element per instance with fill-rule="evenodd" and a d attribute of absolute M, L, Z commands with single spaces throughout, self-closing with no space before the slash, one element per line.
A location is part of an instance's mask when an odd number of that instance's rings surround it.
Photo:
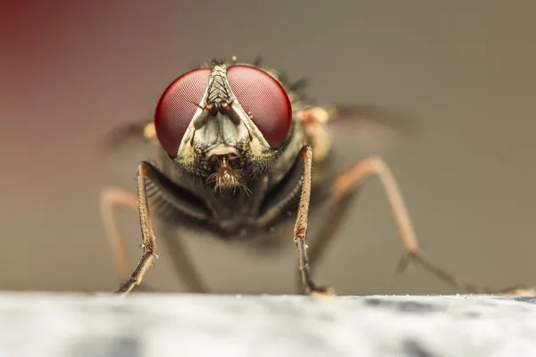
<path fill-rule="evenodd" d="M 0 356 L 536 356 L 536 299 L 0 295 Z"/>

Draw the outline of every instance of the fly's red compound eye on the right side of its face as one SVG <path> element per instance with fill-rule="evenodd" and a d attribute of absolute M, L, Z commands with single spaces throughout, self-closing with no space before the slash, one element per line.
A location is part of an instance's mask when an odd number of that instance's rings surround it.
<path fill-rule="evenodd" d="M 231 66 L 227 79 L 242 109 L 250 113 L 268 144 L 272 148 L 281 147 L 292 121 L 292 107 L 285 89 L 270 74 L 247 65 Z"/>

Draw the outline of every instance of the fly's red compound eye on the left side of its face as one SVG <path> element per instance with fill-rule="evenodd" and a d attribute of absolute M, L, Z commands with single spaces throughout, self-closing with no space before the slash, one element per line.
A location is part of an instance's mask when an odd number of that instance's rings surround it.
<path fill-rule="evenodd" d="M 205 95 L 210 69 L 188 71 L 175 79 L 160 97 L 155 112 L 156 137 L 163 149 L 174 157 L 180 141 Z"/>

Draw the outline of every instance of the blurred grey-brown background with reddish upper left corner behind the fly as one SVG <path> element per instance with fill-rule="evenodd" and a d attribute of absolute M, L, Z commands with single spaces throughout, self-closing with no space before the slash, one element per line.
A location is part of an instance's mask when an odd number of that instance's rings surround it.
<path fill-rule="evenodd" d="M 385 159 L 423 249 L 485 286 L 536 285 L 536 3 L 529 1 L 0 4 L 0 289 L 112 291 L 102 187 L 135 188 L 136 164 L 99 156 L 105 134 L 141 120 L 198 62 L 239 56 L 311 79 L 319 102 L 415 115 Z M 132 260 L 136 213 L 121 213 Z M 377 179 L 316 270 L 339 294 L 456 293 L 403 253 Z M 188 245 L 218 293 L 292 293 L 296 257 L 260 260 L 214 241 Z M 146 280 L 180 291 L 165 253 Z M 256 276 L 256 278 L 254 278 Z"/>

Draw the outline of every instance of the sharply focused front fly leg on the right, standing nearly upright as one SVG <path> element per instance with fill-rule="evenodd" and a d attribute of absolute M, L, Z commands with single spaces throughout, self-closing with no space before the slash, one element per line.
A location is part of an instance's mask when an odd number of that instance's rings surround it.
<path fill-rule="evenodd" d="M 301 197 L 297 208 L 296 224 L 294 225 L 294 243 L 296 243 L 299 278 L 306 295 L 331 295 L 325 287 L 316 286 L 311 278 L 307 258 L 306 235 L 309 203 L 311 198 L 313 151 L 311 150 L 311 147 L 304 146 L 300 151 L 300 155 L 304 162 L 304 176 Z"/>

